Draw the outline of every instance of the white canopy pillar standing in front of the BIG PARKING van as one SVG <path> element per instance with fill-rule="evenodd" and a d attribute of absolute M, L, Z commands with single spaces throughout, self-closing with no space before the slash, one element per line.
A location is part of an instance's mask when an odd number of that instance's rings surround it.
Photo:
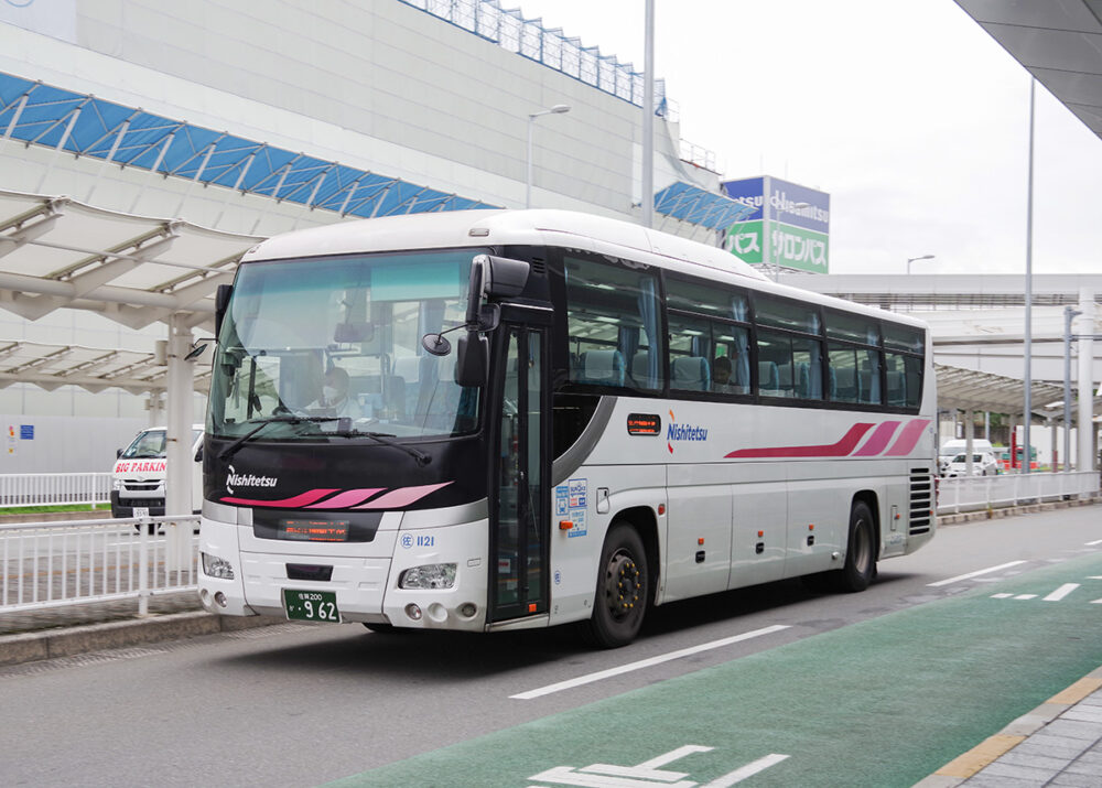
<path fill-rule="evenodd" d="M 168 442 L 164 479 L 164 514 L 169 517 L 192 514 L 192 417 L 194 368 L 184 357 L 192 349 L 192 330 L 185 313 L 169 319 Z M 168 529 L 165 564 L 169 571 L 188 571 L 192 566 L 192 526 L 173 523 Z"/>

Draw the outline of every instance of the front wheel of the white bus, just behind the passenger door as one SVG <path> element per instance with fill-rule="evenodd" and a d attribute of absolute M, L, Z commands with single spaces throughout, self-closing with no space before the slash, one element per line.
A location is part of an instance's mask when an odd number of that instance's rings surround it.
<path fill-rule="evenodd" d="M 635 528 L 614 522 L 601 551 L 597 593 L 590 618 L 590 637 L 603 648 L 635 639 L 647 612 L 650 574 L 647 553 Z"/>

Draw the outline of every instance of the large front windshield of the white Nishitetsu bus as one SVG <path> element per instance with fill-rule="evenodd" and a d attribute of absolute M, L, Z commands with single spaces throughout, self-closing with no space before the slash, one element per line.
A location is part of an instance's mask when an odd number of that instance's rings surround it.
<path fill-rule="evenodd" d="M 474 431 L 478 389 L 456 385 L 455 354 L 432 356 L 421 337 L 462 325 L 480 251 L 242 265 L 218 337 L 207 430 L 239 438 L 273 420 L 264 438 L 310 441 L 348 419 L 346 435 Z"/>

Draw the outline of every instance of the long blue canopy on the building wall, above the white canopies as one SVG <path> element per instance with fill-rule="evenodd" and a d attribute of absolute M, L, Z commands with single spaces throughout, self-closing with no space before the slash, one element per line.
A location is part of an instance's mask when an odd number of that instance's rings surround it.
<path fill-rule="evenodd" d="M 0 136 L 342 215 L 498 207 L 3 73 Z"/>

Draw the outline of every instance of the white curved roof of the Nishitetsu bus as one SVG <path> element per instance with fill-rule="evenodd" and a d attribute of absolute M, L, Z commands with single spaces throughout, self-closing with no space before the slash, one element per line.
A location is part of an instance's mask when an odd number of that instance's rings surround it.
<path fill-rule="evenodd" d="M 574 211 L 450 211 L 342 222 L 269 238 L 245 253 L 241 262 L 285 260 L 465 246 L 553 246 L 626 257 L 682 273 L 705 272 L 721 281 L 743 281 L 756 290 L 884 316 L 874 306 L 778 284 L 731 252 L 641 225 Z M 750 281 L 747 281 L 750 280 Z M 925 327 L 922 321 L 890 313 L 899 323 Z"/>

